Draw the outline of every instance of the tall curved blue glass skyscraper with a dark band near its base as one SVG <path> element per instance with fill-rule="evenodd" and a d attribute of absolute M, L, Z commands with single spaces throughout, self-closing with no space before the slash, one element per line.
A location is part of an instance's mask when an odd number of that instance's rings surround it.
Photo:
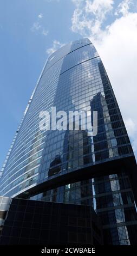
<path fill-rule="evenodd" d="M 40 112 L 98 113 L 97 135 L 40 130 Z M 55 117 L 54 117 L 55 119 Z M 71 42 L 45 64 L 16 132 L 0 195 L 92 205 L 106 244 L 137 240 L 136 161 L 118 103 L 89 39 Z"/>

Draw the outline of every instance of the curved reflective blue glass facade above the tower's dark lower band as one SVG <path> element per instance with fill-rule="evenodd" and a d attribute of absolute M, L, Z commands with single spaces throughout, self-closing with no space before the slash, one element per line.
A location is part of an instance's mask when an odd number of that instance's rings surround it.
<path fill-rule="evenodd" d="M 97 135 L 88 136 L 82 130 L 41 131 L 39 113 L 51 113 L 52 106 L 56 112 L 97 111 Z M 0 193 L 17 196 L 49 177 L 131 155 L 131 143 L 99 54 L 88 39 L 77 40 L 49 57 L 5 164 Z"/>

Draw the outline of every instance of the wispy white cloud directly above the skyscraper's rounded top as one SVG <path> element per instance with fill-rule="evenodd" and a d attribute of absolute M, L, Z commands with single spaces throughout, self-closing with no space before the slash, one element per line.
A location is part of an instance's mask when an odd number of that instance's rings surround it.
<path fill-rule="evenodd" d="M 106 15 L 113 10 L 113 0 L 72 0 L 76 5 L 71 19 L 71 30 L 83 36 L 91 33 L 96 36 L 102 34 L 101 26 Z"/>

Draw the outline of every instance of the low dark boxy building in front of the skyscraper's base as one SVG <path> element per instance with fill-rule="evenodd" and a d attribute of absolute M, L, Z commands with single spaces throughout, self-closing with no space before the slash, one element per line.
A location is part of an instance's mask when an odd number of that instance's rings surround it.
<path fill-rule="evenodd" d="M 100 218 L 86 205 L 0 197 L 0 245 L 102 245 Z"/>

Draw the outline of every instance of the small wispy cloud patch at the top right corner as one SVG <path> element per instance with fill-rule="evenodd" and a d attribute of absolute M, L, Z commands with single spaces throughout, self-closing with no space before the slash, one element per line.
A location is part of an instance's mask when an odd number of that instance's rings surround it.
<path fill-rule="evenodd" d="M 133 5 L 134 2 L 133 0 L 123 0 L 119 5 L 117 10 L 115 11 L 115 15 L 119 15 L 120 13 L 123 16 L 128 15 L 129 9 L 131 7 L 131 5 Z"/>

